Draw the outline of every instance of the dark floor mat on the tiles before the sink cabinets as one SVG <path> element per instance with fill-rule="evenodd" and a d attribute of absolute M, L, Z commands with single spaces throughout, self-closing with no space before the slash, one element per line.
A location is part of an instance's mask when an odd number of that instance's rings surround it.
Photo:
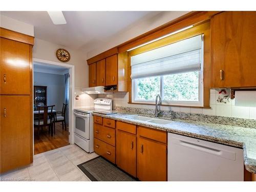
<path fill-rule="evenodd" d="M 136 181 L 102 157 L 77 165 L 92 181 Z"/>

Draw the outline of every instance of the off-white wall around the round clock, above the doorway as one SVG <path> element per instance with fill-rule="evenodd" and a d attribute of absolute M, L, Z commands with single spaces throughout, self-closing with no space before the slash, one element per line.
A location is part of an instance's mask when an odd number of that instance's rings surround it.
<path fill-rule="evenodd" d="M 33 58 L 45 59 L 54 62 L 60 62 L 55 53 L 59 48 L 69 51 L 71 57 L 67 64 L 75 66 L 75 88 L 81 89 L 88 87 L 88 65 L 86 59 L 83 59 L 78 51 L 53 44 L 52 42 L 35 38 L 33 47 Z"/>

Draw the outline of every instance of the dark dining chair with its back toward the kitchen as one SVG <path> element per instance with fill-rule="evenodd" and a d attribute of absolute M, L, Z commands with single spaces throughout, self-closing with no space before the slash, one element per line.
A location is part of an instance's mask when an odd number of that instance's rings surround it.
<path fill-rule="evenodd" d="M 48 126 L 49 134 L 53 136 L 53 107 L 55 105 L 50 106 L 37 106 L 38 113 L 34 114 L 34 127 L 37 127 L 37 136 L 39 138 L 39 129 L 44 126 Z"/>

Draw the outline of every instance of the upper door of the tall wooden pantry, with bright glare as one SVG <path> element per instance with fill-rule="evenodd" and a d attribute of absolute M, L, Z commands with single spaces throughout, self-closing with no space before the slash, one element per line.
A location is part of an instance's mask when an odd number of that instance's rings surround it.
<path fill-rule="evenodd" d="M 1 38 L 0 45 L 0 94 L 29 95 L 30 45 L 5 38 Z"/>

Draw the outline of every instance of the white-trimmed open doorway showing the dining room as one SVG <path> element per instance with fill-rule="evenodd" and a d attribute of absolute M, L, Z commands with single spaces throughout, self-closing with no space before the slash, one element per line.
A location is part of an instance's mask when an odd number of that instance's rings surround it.
<path fill-rule="evenodd" d="M 34 58 L 33 89 L 34 155 L 73 143 L 74 66 Z"/>

